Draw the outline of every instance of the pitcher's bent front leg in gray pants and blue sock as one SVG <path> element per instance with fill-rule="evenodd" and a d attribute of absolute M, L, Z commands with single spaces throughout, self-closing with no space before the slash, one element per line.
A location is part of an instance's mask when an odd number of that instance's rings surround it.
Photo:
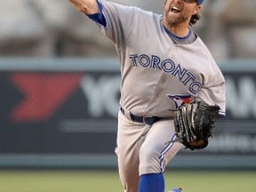
<path fill-rule="evenodd" d="M 140 192 L 164 192 L 166 164 L 182 148 L 180 143 L 166 144 L 172 140 L 174 133 L 172 120 L 156 122 L 150 128 L 140 148 Z M 152 185 L 161 186 L 156 189 Z"/>

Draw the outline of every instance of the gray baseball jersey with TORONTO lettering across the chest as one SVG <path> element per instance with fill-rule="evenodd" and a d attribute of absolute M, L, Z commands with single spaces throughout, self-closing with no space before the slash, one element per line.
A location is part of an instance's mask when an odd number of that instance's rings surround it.
<path fill-rule="evenodd" d="M 121 64 L 120 104 L 138 116 L 173 116 L 184 97 L 220 106 L 225 114 L 224 77 L 202 40 L 174 44 L 162 15 L 101 1 Z M 180 96 L 180 99 L 179 99 Z"/>

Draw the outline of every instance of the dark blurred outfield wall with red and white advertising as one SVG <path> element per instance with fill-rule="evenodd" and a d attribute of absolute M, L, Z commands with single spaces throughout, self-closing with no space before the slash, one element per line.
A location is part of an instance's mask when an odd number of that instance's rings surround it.
<path fill-rule="evenodd" d="M 256 167 L 256 61 L 220 62 L 227 117 L 174 167 Z M 0 166 L 116 166 L 115 59 L 0 60 Z M 205 163 L 207 162 L 207 163 Z"/>

